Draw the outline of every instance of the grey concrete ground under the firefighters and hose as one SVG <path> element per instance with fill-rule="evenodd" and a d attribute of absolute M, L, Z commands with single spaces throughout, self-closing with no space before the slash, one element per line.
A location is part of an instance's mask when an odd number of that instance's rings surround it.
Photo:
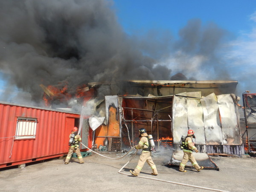
<path fill-rule="evenodd" d="M 118 158 L 124 155 L 120 152 L 104 151 L 101 154 Z M 64 165 L 64 158 L 47 160 L 43 163 L 26 165 L 24 168 L 0 169 L 0 191 L 4 192 L 170 192 L 170 191 L 208 191 L 205 189 L 182 186 L 175 183 L 185 183 L 194 186 L 217 189 L 217 191 L 256 191 L 256 158 L 244 155 L 243 157 L 211 157 L 219 167 L 216 170 L 187 169 L 186 173 L 178 172 L 177 167 L 166 167 L 170 160 L 168 153 L 153 155 L 158 175 L 150 175 L 151 169 L 147 164 L 140 176 L 151 180 L 119 174 L 119 169 L 132 157 L 128 154 L 121 160 L 111 160 L 97 154 L 84 157 L 84 164 L 79 164 L 73 158 L 68 165 Z M 139 159 L 137 154 L 122 170 L 129 174 L 134 170 Z M 160 181 L 161 180 L 161 181 Z"/>

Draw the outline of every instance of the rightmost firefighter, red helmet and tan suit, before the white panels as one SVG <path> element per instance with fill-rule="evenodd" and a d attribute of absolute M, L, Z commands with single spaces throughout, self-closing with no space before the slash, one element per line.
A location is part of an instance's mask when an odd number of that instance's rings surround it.
<path fill-rule="evenodd" d="M 185 147 L 183 148 L 184 155 L 179 168 L 180 172 L 186 172 L 186 170 L 184 170 L 184 167 L 186 166 L 186 163 L 188 162 L 188 160 L 192 163 L 192 166 L 195 167 L 195 169 L 198 172 L 204 169 L 204 167 L 200 167 L 198 165 L 198 163 L 195 160 L 195 157 L 192 154 L 192 151 L 195 151 L 196 153 L 198 153 L 198 149 L 194 146 L 195 143 L 193 143 L 193 140 L 192 140 L 192 138 L 195 138 L 194 133 L 195 132 L 193 130 L 189 130 L 186 136 Z"/>

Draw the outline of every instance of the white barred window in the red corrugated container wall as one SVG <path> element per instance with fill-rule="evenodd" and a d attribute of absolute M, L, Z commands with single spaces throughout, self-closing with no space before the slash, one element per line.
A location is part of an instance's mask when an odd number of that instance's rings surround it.
<path fill-rule="evenodd" d="M 36 133 L 37 119 L 18 117 L 16 139 L 33 139 Z"/>

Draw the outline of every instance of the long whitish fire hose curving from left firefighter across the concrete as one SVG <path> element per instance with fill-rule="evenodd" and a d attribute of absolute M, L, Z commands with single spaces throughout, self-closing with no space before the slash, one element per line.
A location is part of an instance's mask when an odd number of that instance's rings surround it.
<path fill-rule="evenodd" d="M 102 154 L 99 154 L 93 150 L 91 150 L 90 148 L 88 148 L 87 146 L 85 146 L 83 143 L 81 143 L 85 148 L 89 149 L 90 151 L 92 151 L 93 153 L 96 153 L 102 157 L 106 157 Z M 129 154 L 133 149 L 135 148 L 135 146 L 133 148 L 131 148 L 130 151 L 128 151 L 124 156 L 122 157 L 119 157 L 119 158 L 111 158 L 111 157 L 106 157 L 108 159 L 113 159 L 113 160 L 118 160 L 118 159 L 122 159 L 123 157 L 125 157 L 127 154 Z M 138 149 L 137 151 L 135 152 L 135 154 L 131 157 L 131 159 L 125 163 L 124 166 L 122 166 L 122 168 L 118 171 L 118 173 L 122 174 L 122 175 L 128 175 L 128 176 L 132 176 L 130 174 L 126 174 L 126 173 L 122 173 L 121 170 L 135 157 L 135 155 L 137 154 L 138 152 Z M 135 176 L 134 176 L 135 177 Z M 162 181 L 162 182 L 166 182 L 166 183 L 172 183 L 172 184 L 177 184 L 177 185 L 182 185 L 182 186 L 189 186 L 189 187 L 194 187 L 194 188 L 198 188 L 198 189 L 205 189 L 205 190 L 210 190 L 210 191 L 218 191 L 218 192 L 227 192 L 227 191 L 223 191 L 223 190 L 220 190 L 220 189 L 212 189 L 212 188 L 208 188 L 208 187 L 201 187 L 201 186 L 195 186 L 195 185 L 189 185 L 189 184 L 185 184 L 185 183 L 177 183 L 177 182 L 173 182 L 173 181 L 169 181 L 169 180 L 162 180 L 162 179 L 156 179 L 156 178 L 151 178 L 151 177 L 143 177 L 143 176 L 137 176 L 137 177 L 140 177 L 140 178 L 144 178 L 144 179 L 151 179 L 151 180 L 158 180 L 158 181 Z"/>

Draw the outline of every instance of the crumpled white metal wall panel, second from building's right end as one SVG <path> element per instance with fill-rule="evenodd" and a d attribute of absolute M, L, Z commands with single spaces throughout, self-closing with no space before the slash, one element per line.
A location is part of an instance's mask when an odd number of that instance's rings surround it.
<path fill-rule="evenodd" d="M 204 112 L 204 133 L 207 145 L 223 145 L 217 97 L 214 93 L 201 99 Z"/>

